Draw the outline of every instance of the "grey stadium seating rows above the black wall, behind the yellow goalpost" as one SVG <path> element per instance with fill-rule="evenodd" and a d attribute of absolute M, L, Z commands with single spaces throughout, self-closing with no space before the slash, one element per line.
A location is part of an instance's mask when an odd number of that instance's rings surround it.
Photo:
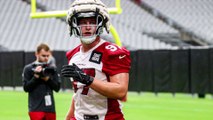
<path fill-rule="evenodd" d="M 37 0 L 38 11 L 66 10 L 73 0 Z M 114 1 L 103 0 L 107 6 Z M 210 0 L 121 0 L 122 14 L 111 15 L 129 49 L 173 49 L 211 45 Z M 30 0 L 1 0 L 1 51 L 34 51 L 41 42 L 68 50 L 79 41 L 68 35 L 65 18 L 30 18 Z M 192 6 L 192 7 L 190 7 Z M 112 40 L 111 35 L 103 35 Z"/>

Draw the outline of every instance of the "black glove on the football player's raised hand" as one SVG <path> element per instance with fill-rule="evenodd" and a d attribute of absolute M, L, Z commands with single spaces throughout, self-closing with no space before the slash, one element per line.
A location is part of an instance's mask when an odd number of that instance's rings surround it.
<path fill-rule="evenodd" d="M 77 65 L 64 65 L 61 69 L 61 74 L 63 77 L 72 77 L 74 80 L 81 82 L 86 85 L 90 85 L 94 78 L 85 74 Z"/>

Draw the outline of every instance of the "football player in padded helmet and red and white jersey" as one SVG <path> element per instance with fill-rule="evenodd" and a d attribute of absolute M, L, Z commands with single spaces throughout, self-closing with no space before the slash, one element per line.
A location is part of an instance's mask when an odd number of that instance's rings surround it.
<path fill-rule="evenodd" d="M 66 120 L 124 120 L 120 100 L 128 91 L 130 53 L 100 38 L 109 32 L 109 14 L 100 0 L 75 0 L 67 14 L 70 35 L 81 44 L 66 56 L 61 74 L 74 95 Z"/>

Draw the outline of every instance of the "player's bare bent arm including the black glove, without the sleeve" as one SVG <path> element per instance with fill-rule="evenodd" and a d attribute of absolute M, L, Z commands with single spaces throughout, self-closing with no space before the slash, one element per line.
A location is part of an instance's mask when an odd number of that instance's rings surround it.
<path fill-rule="evenodd" d="M 100 94 L 113 99 L 124 98 L 128 90 L 129 73 L 127 72 L 114 74 L 109 77 L 110 82 L 107 82 L 85 74 L 78 66 L 73 64 L 63 66 L 61 74 L 64 77 L 73 77 L 75 80 L 88 85 Z"/>

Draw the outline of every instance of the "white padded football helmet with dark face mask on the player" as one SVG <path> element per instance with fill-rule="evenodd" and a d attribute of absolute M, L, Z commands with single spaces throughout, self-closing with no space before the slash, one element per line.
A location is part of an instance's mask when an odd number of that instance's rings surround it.
<path fill-rule="evenodd" d="M 95 26 L 91 24 L 91 28 L 96 29 L 91 36 L 82 34 L 83 26 L 79 24 L 79 21 L 84 18 L 95 18 L 96 20 Z M 75 0 L 68 11 L 67 23 L 70 36 L 74 34 L 85 44 L 92 43 L 103 32 L 103 28 L 109 32 L 109 14 L 100 0 Z"/>

